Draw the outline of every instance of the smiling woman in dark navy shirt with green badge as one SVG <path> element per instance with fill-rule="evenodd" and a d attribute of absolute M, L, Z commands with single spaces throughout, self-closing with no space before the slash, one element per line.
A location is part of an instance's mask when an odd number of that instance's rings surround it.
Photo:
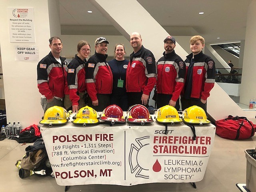
<path fill-rule="evenodd" d="M 116 44 L 114 49 L 115 58 L 108 62 L 113 74 L 113 89 L 110 95 L 110 104 L 116 104 L 123 111 L 128 109 L 128 95 L 126 93 L 126 69 L 128 60 L 124 59 L 124 44 Z"/>

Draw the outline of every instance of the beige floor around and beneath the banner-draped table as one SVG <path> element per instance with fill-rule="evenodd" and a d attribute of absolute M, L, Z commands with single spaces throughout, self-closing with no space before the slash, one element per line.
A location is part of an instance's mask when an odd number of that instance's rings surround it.
<path fill-rule="evenodd" d="M 22 158 L 29 145 L 32 144 L 22 146 L 15 140 L 0 141 L 0 192 L 64 192 L 64 186 L 58 186 L 51 176 L 19 177 L 14 164 Z M 239 192 L 236 184 L 246 182 L 244 150 L 255 147 L 256 136 L 247 140 L 226 140 L 216 135 L 204 179 L 196 182 L 196 189 L 190 183 L 154 183 L 71 186 L 68 192 Z"/>

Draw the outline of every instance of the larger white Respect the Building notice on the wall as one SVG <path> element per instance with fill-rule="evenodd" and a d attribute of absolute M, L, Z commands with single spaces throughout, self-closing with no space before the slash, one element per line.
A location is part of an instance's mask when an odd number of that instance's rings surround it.
<path fill-rule="evenodd" d="M 34 9 L 8 8 L 10 42 L 35 42 Z"/>

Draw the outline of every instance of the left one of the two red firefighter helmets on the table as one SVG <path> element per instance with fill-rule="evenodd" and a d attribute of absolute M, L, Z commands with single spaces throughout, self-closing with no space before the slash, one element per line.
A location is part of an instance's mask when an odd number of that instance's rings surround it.
<path fill-rule="evenodd" d="M 107 106 L 101 116 L 100 120 L 111 122 L 111 124 L 118 123 L 125 123 L 126 120 L 124 119 L 123 110 L 117 105 L 110 105 Z"/>

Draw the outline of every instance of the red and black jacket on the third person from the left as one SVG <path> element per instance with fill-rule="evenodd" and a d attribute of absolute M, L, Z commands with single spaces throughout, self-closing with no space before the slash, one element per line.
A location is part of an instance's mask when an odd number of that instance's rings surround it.
<path fill-rule="evenodd" d="M 108 55 L 95 52 L 88 59 L 85 66 L 86 87 L 92 101 L 97 100 L 96 94 L 111 94 L 113 86 L 113 75 L 106 61 Z"/>

